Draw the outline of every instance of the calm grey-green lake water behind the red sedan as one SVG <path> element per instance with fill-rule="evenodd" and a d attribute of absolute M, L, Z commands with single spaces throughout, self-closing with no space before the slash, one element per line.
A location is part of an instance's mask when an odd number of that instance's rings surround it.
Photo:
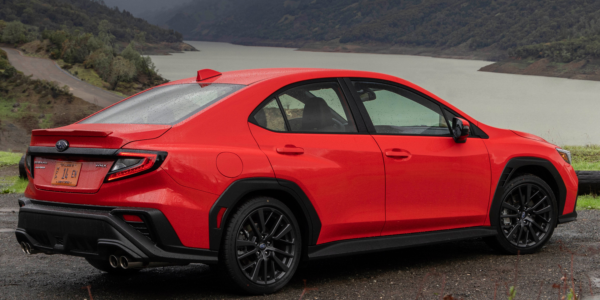
<path fill-rule="evenodd" d="M 478 72 L 486 61 L 410 55 L 305 52 L 186 41 L 200 52 L 152 56 L 169 80 L 211 68 L 339 68 L 391 74 L 422 86 L 479 122 L 544 137 L 558 145 L 600 144 L 600 82 Z"/>

